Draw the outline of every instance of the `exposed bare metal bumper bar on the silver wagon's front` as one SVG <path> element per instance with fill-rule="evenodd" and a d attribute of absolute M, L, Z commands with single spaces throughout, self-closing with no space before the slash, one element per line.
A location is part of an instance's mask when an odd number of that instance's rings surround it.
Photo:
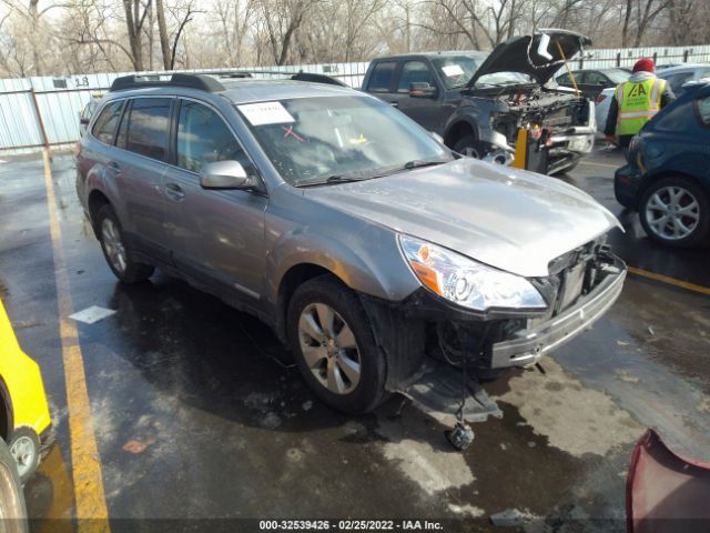
<path fill-rule="evenodd" d="M 534 364 L 546 353 L 561 346 L 589 328 L 617 301 L 623 288 L 626 269 L 615 265 L 618 274 L 608 275 L 594 292 L 581 296 L 571 308 L 549 321 L 493 344 L 490 368 L 525 366 Z"/>

